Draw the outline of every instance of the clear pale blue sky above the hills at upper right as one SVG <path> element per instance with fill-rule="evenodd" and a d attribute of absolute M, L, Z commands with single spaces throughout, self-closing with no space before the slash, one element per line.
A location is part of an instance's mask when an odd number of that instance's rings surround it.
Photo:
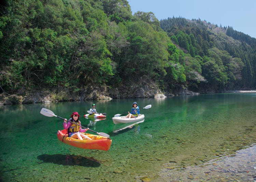
<path fill-rule="evenodd" d="M 158 20 L 168 17 L 206 20 L 218 26 L 256 38 L 256 0 L 127 0 L 132 15 L 137 11 L 153 12 Z"/>

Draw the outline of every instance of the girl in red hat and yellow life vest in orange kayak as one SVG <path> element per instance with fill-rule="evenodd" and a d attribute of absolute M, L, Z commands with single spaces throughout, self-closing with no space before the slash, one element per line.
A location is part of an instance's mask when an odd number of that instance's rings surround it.
<path fill-rule="evenodd" d="M 79 139 L 79 140 L 83 140 L 83 139 L 93 140 L 88 136 L 86 136 L 85 134 L 81 133 L 81 132 L 86 132 L 88 128 L 82 129 L 81 122 L 79 121 L 80 115 L 78 114 L 78 112 L 73 112 L 70 117 L 71 117 L 69 119 L 70 122 L 67 123 L 67 119 L 64 119 L 64 123 L 63 123 L 64 129 L 68 130 L 69 137 L 74 139 Z"/>

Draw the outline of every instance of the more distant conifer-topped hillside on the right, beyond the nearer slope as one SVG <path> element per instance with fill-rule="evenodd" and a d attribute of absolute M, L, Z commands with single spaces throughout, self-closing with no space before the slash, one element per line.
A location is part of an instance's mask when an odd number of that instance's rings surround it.
<path fill-rule="evenodd" d="M 199 90 L 221 92 L 231 89 L 255 89 L 256 39 L 206 21 L 168 18 L 160 21 L 175 45 L 200 62 L 207 79 Z M 196 88 L 194 88 L 196 89 Z"/>

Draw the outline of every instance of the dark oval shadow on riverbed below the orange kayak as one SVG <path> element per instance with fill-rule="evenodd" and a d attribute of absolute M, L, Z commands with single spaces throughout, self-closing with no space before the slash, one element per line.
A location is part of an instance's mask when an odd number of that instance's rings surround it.
<path fill-rule="evenodd" d="M 62 155 L 62 154 L 54 154 L 48 155 L 43 154 L 37 157 L 37 159 L 47 162 L 47 163 L 55 163 L 63 166 L 84 166 L 84 167 L 99 167 L 100 162 L 94 159 L 93 157 L 83 157 L 76 155 Z"/>

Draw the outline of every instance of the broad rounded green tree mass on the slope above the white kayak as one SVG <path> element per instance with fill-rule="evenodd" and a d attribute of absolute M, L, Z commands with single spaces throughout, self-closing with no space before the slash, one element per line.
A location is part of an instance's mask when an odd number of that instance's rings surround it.
<path fill-rule="evenodd" d="M 166 74 L 164 69 L 168 59 L 167 35 L 155 31 L 147 22 L 129 22 L 129 47 L 126 47 L 118 65 L 118 72 L 124 79 L 134 80 L 134 76 L 148 76 L 159 80 Z"/>

